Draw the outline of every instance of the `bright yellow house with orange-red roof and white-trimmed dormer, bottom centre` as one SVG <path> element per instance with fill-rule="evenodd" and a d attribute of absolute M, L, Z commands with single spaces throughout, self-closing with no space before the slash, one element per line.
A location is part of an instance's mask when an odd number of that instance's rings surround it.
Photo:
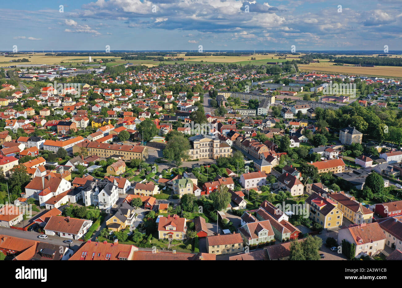
<path fill-rule="evenodd" d="M 158 224 L 159 239 L 183 240 L 186 233 L 186 219 L 176 214 L 160 217 Z"/>

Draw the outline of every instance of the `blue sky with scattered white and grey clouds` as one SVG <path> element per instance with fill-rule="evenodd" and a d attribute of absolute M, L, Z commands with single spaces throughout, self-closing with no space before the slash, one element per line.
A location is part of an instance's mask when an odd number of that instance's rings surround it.
<path fill-rule="evenodd" d="M 402 50 L 402 0 L 3 0 L 0 25 L 3 51 Z"/>

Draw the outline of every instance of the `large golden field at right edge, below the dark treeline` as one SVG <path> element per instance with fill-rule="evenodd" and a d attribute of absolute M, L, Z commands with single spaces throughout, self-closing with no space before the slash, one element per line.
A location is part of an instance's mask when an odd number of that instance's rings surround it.
<path fill-rule="evenodd" d="M 321 61 L 321 60 L 320 60 Z M 348 75 L 367 75 L 384 77 L 402 77 L 402 67 L 400 66 L 375 66 L 375 67 L 355 67 L 337 66 L 330 62 L 299 64 L 301 71 L 316 71 L 325 73 L 339 73 Z"/>

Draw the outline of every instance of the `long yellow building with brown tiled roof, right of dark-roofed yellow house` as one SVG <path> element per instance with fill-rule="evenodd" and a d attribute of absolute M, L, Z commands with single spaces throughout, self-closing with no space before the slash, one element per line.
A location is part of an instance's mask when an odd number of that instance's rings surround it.
<path fill-rule="evenodd" d="M 328 194 L 328 198 L 338 205 L 338 209 L 342 211 L 343 216 L 352 223 L 361 224 L 373 221 L 373 211 L 357 202 L 355 197 L 349 198 L 341 191 Z"/>

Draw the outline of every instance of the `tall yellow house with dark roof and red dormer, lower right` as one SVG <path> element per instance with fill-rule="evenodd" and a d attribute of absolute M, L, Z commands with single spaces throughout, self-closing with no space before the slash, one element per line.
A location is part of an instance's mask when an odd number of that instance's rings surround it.
<path fill-rule="evenodd" d="M 324 228 L 339 227 L 342 225 L 343 213 L 337 204 L 314 192 L 306 199 L 309 217 Z"/>

